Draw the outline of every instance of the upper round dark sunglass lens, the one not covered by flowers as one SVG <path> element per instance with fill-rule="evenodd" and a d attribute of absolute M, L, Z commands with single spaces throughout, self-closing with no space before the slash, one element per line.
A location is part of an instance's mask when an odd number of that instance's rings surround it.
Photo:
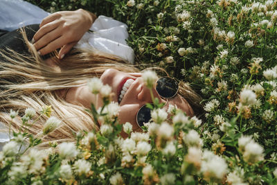
<path fill-rule="evenodd" d="M 162 77 L 157 81 L 156 90 L 163 98 L 172 98 L 177 94 L 178 82 L 170 77 Z"/>

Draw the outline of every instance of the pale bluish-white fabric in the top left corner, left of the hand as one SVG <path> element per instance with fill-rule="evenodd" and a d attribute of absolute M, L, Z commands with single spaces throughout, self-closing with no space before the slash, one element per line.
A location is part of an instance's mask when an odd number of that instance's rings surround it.
<path fill-rule="evenodd" d="M 50 13 L 22 0 L 0 0 L 0 29 L 15 30 L 30 24 L 40 24 Z"/>

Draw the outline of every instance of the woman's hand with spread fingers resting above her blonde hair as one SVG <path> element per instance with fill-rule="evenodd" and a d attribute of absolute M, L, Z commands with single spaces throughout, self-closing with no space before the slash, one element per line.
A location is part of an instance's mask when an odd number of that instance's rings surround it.
<path fill-rule="evenodd" d="M 86 10 L 55 12 L 42 20 L 33 37 L 35 49 L 46 55 L 60 48 L 61 59 L 89 30 L 96 15 Z"/>

